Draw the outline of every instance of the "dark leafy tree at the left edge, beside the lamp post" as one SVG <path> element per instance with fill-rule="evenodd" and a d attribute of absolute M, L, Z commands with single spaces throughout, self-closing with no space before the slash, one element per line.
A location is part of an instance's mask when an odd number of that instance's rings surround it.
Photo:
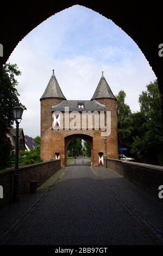
<path fill-rule="evenodd" d="M 0 169 L 9 167 L 10 140 L 6 134 L 14 123 L 12 107 L 20 103 L 16 76 L 21 75 L 16 64 L 5 64 L 0 77 Z"/>

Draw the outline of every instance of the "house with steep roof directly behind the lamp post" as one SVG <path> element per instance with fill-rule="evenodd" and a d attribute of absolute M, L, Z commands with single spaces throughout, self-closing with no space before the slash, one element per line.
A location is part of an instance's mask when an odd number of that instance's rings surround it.
<path fill-rule="evenodd" d="M 12 149 L 15 150 L 16 129 L 15 128 L 10 129 L 9 133 L 7 133 L 7 137 L 10 138 Z M 20 150 L 25 150 L 26 149 L 25 139 L 24 139 L 24 132 L 23 132 L 22 128 L 18 129 L 18 149 L 20 149 Z"/>

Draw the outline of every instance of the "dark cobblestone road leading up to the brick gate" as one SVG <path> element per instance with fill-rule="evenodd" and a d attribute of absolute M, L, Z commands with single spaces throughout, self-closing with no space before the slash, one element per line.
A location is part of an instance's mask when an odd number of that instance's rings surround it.
<path fill-rule="evenodd" d="M 0 210 L 1 245 L 163 244 L 163 205 L 112 170 L 71 166 Z M 56 180 L 55 180 L 56 181 Z"/>

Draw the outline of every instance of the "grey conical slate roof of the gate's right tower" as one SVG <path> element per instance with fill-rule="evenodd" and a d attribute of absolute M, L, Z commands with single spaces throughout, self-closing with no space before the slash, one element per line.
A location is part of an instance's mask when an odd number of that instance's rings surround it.
<path fill-rule="evenodd" d="M 96 99 L 101 99 L 101 98 L 116 99 L 116 97 L 112 93 L 108 83 L 105 80 L 103 72 L 102 72 L 101 80 L 99 80 L 98 86 L 97 86 L 95 93 L 93 94 L 93 97 L 91 100 L 96 100 Z"/>

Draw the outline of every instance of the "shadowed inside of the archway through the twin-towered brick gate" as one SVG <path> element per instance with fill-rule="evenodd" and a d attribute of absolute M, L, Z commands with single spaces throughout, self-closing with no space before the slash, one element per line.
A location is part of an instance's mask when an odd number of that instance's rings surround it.
<path fill-rule="evenodd" d="M 67 166 L 67 147 L 73 141 L 73 139 L 82 138 L 89 143 L 91 147 L 91 166 L 93 165 L 93 137 L 84 133 L 74 133 L 65 137 L 65 166 Z"/>

